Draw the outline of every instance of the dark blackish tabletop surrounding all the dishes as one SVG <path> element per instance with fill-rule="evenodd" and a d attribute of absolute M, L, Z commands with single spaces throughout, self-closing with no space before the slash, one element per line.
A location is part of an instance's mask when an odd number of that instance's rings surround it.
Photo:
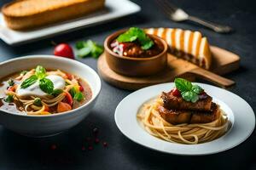
<path fill-rule="evenodd" d="M 100 26 L 73 31 L 61 36 L 10 47 L 0 41 L 0 60 L 27 54 L 52 54 L 51 41 L 74 45 L 79 40 L 92 39 L 102 43 L 113 31 L 130 27 L 180 27 L 199 30 L 212 45 L 228 49 L 241 56 L 241 68 L 226 77 L 236 81 L 230 89 L 246 99 L 256 111 L 256 14 L 253 1 L 238 0 L 173 0 L 189 14 L 226 24 L 236 32 L 222 35 L 189 22 L 174 23 L 166 18 L 153 0 L 133 0 L 142 11 Z M 1 1 L 5 3 L 7 1 Z M 1 5 L 0 3 L 0 5 Z M 79 59 L 96 70 L 96 59 Z M 198 80 L 201 81 L 201 80 Z M 83 122 L 65 133 L 46 139 L 30 139 L 0 126 L 0 169 L 256 169 L 256 136 L 251 135 L 234 149 L 211 156 L 174 156 L 143 148 L 126 139 L 115 125 L 113 115 L 119 101 L 131 92 L 114 88 L 102 81 L 102 92 L 96 107 Z M 241 113 L 242 114 L 242 113 Z M 246 123 L 246 122 L 244 122 Z M 86 138 L 94 139 L 92 129 L 98 127 L 100 144 L 93 150 Z M 102 142 L 107 141 L 104 148 Z M 90 143 L 90 142 L 89 142 Z M 55 144 L 56 149 L 51 150 Z M 85 151 L 81 148 L 84 145 Z"/>

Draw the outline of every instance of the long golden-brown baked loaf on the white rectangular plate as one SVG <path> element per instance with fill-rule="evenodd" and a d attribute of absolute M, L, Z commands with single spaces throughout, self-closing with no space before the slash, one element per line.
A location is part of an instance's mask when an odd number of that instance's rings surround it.
<path fill-rule="evenodd" d="M 73 19 L 104 7 L 105 0 L 15 0 L 2 8 L 7 26 L 26 30 Z"/>

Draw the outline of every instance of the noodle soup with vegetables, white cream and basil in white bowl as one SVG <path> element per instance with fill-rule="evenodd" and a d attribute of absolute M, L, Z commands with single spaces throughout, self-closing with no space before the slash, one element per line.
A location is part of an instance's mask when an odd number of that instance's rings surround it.
<path fill-rule="evenodd" d="M 0 80 L 0 110 L 27 115 L 71 111 L 92 97 L 85 80 L 60 70 L 38 65 Z"/>

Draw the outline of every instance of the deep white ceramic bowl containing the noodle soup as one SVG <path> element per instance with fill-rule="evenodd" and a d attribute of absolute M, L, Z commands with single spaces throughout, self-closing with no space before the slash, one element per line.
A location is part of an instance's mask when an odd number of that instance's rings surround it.
<path fill-rule="evenodd" d="M 43 137 L 61 133 L 77 125 L 88 116 L 101 90 L 101 79 L 96 71 L 73 59 L 56 57 L 53 55 L 30 55 L 10 59 L 0 63 L 0 78 L 17 71 L 28 70 L 43 65 L 49 69 L 60 69 L 75 74 L 89 83 L 92 98 L 85 105 L 72 111 L 49 116 L 26 116 L 14 112 L 0 110 L 0 124 L 4 127 L 26 136 Z"/>

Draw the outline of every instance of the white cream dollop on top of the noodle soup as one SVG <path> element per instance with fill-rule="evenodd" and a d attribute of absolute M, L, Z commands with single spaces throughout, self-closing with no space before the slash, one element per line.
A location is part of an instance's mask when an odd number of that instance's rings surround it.
<path fill-rule="evenodd" d="M 65 80 L 57 75 L 49 75 L 45 78 L 48 78 L 51 82 L 54 84 L 54 89 L 64 89 L 65 87 Z M 21 84 L 21 83 L 20 83 Z M 26 96 L 36 96 L 36 97 L 45 97 L 49 94 L 44 93 L 43 90 L 39 87 L 39 82 L 33 83 L 31 86 L 27 88 L 20 88 L 20 85 L 18 86 L 16 90 L 16 94 L 20 97 L 26 97 Z"/>

